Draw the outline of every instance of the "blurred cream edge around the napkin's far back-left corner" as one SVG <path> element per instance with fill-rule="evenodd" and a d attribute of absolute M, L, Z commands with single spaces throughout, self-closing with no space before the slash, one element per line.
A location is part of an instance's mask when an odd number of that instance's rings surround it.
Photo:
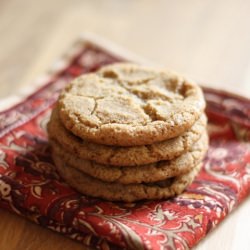
<path fill-rule="evenodd" d="M 135 63 L 142 63 L 145 65 L 156 65 L 143 57 L 137 56 L 132 52 L 120 47 L 119 45 L 99 37 L 98 35 L 86 32 L 82 33 L 76 40 L 69 46 L 66 52 L 62 52 L 62 56 L 52 63 L 48 70 L 38 77 L 32 83 L 27 86 L 18 89 L 15 94 L 7 96 L 0 100 L 0 112 L 6 111 L 10 108 L 14 108 L 16 105 L 25 101 L 34 92 L 38 91 L 44 85 L 46 85 L 50 79 L 65 70 L 70 61 L 83 49 L 84 44 L 91 44 L 97 46 L 116 57 L 122 58 L 123 60 L 133 61 Z"/>

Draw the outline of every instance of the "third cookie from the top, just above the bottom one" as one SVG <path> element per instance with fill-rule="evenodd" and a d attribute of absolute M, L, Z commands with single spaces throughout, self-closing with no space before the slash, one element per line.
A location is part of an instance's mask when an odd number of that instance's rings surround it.
<path fill-rule="evenodd" d="M 53 140 L 51 140 L 51 146 L 53 153 L 66 164 L 96 179 L 123 184 L 148 183 L 164 180 L 190 171 L 202 161 L 207 151 L 208 137 L 204 134 L 189 152 L 171 161 L 160 161 L 136 167 L 113 167 L 83 160 L 68 153 L 67 149 L 62 148 L 60 144 Z"/>

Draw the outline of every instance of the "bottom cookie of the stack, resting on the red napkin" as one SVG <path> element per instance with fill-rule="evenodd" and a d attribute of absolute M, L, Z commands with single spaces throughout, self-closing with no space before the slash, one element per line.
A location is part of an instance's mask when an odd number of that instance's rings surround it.
<path fill-rule="evenodd" d="M 190 172 L 165 181 L 148 184 L 108 183 L 95 179 L 78 169 L 70 167 L 56 154 L 52 154 L 61 177 L 80 193 L 110 201 L 133 202 L 173 197 L 180 194 L 193 181 L 200 170 L 198 164 Z"/>

